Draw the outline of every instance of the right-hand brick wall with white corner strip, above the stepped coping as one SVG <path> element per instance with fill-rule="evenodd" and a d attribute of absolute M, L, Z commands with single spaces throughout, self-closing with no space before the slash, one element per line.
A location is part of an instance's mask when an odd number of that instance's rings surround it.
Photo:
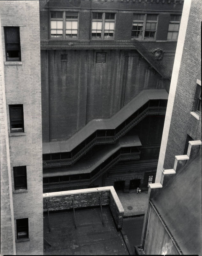
<path fill-rule="evenodd" d="M 198 73 L 201 70 L 201 7 L 197 0 L 184 2 L 157 167 L 157 183 L 160 182 L 162 168 L 173 168 L 175 155 L 183 154 L 187 134 L 194 140 L 201 140 L 201 118 L 197 120 L 190 115 L 196 80 L 200 79 Z"/>

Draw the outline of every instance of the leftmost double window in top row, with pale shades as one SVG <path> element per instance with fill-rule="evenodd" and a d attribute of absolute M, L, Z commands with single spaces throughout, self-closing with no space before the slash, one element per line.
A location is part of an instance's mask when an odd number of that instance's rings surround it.
<path fill-rule="evenodd" d="M 50 37 L 77 38 L 78 12 L 50 12 Z"/>

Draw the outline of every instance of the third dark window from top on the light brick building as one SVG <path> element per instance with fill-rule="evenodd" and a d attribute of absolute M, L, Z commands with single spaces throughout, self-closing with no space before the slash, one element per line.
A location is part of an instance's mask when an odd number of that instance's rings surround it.
<path fill-rule="evenodd" d="M 26 166 L 13 167 L 14 188 L 27 189 L 27 169 Z"/>

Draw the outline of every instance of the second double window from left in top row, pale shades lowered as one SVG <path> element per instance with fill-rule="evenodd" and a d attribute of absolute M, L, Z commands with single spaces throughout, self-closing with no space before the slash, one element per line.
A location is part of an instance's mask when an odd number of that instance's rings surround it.
<path fill-rule="evenodd" d="M 92 13 L 92 39 L 113 39 L 115 27 L 115 13 L 93 12 Z"/>

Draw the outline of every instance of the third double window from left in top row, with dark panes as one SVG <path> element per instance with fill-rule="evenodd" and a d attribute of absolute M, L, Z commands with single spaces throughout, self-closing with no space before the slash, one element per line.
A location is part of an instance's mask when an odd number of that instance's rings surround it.
<path fill-rule="evenodd" d="M 158 14 L 133 14 L 131 38 L 155 39 Z"/>

